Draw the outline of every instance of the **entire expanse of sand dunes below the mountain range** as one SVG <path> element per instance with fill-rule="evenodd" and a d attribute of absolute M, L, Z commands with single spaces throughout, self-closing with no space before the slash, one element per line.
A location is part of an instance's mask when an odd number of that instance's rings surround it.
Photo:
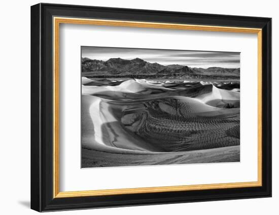
<path fill-rule="evenodd" d="M 239 161 L 235 83 L 82 78 L 82 167 Z"/>

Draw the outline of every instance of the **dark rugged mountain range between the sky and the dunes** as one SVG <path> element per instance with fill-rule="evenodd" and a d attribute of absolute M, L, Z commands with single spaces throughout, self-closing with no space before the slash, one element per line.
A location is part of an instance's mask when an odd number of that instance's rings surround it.
<path fill-rule="evenodd" d="M 156 75 L 175 77 L 200 77 L 200 76 L 235 76 L 239 78 L 240 68 L 209 67 L 196 68 L 178 64 L 161 65 L 150 63 L 140 58 L 125 60 L 121 58 L 111 58 L 107 61 L 81 59 L 82 72 L 90 76 L 129 76 L 129 75 Z"/>

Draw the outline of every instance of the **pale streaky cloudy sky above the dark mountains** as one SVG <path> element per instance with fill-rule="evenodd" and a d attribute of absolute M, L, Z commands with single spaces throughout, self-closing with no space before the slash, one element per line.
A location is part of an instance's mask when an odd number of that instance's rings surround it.
<path fill-rule="evenodd" d="M 82 57 L 107 61 L 110 58 L 132 60 L 141 58 L 150 63 L 162 65 L 179 64 L 189 67 L 224 67 L 239 68 L 240 53 L 238 52 L 205 52 L 160 49 L 128 49 L 112 47 L 82 47 Z"/>

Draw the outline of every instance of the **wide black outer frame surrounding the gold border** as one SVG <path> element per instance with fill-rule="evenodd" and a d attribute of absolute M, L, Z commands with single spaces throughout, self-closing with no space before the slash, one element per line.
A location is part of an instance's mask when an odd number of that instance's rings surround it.
<path fill-rule="evenodd" d="M 53 16 L 261 28 L 262 186 L 53 198 Z M 271 197 L 271 18 L 44 3 L 31 6 L 31 209 L 53 211 L 259 197 Z"/>

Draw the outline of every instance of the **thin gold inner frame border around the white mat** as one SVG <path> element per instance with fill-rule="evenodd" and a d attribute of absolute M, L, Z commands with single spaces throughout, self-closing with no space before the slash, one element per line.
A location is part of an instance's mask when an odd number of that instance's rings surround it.
<path fill-rule="evenodd" d="M 256 182 L 60 192 L 59 191 L 59 24 L 60 23 L 220 31 L 220 32 L 237 32 L 237 33 L 256 33 L 258 36 L 258 180 Z M 208 189 L 227 189 L 227 188 L 244 188 L 244 187 L 259 187 L 259 186 L 262 186 L 262 29 L 53 17 L 53 198 L 120 195 L 120 194 L 136 194 L 136 193 L 158 193 L 158 192 L 208 190 Z"/>

